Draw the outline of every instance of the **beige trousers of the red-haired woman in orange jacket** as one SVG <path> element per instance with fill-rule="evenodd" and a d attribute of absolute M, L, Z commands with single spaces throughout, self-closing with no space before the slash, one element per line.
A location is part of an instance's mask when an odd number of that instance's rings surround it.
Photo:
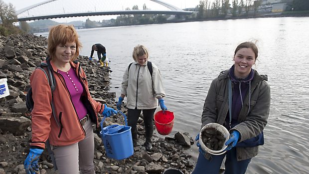
<path fill-rule="evenodd" d="M 94 138 L 91 121 L 83 126 L 86 132 L 84 140 L 69 146 L 51 146 L 54 152 L 58 174 L 95 174 Z"/>

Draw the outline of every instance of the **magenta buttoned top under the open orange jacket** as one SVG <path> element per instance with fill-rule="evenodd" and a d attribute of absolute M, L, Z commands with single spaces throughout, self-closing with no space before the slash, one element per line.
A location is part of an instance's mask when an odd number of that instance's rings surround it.
<path fill-rule="evenodd" d="M 60 73 L 64 78 L 64 82 L 69 90 L 73 106 L 77 112 L 79 120 L 81 120 L 88 113 L 85 105 L 81 101 L 84 88 L 78 80 L 77 74 L 72 67 L 68 72 L 63 72 L 58 69 L 58 73 Z"/>

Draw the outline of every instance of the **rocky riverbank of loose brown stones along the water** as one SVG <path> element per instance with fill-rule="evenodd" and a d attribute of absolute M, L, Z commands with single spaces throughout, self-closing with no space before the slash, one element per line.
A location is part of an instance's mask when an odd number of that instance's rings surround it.
<path fill-rule="evenodd" d="M 0 79 L 7 78 L 10 93 L 9 96 L 0 98 L 0 174 L 25 174 L 23 161 L 29 152 L 31 141 L 31 114 L 27 112 L 25 96 L 29 89 L 29 77 L 45 59 L 46 48 L 45 37 L 31 34 L 0 36 Z M 116 109 L 116 94 L 109 92 L 109 74 L 112 70 L 100 67 L 85 56 L 79 56 L 78 61 L 87 74 L 92 97 Z M 123 112 L 127 113 L 126 109 Z M 114 124 L 124 124 L 120 114 L 107 118 L 104 122 L 105 126 Z M 139 142 L 134 148 L 134 155 L 117 161 L 107 158 L 99 132 L 100 129 L 95 129 L 94 164 L 97 174 L 161 174 L 170 168 L 189 174 L 193 170 L 191 157 L 184 153 L 185 149 L 193 145 L 188 133 L 177 132 L 164 138 L 154 133 L 154 150 L 146 152 L 141 115 L 138 125 Z M 41 174 L 55 173 L 47 150 L 41 155 L 39 164 Z"/>

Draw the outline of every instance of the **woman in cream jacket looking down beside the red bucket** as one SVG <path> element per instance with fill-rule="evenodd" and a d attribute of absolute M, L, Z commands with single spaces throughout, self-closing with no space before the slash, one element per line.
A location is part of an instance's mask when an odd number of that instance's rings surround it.
<path fill-rule="evenodd" d="M 163 97 L 165 92 L 159 69 L 148 61 L 149 53 L 144 45 L 137 45 L 133 50 L 133 59 L 123 76 L 122 90 L 117 103 L 117 109 L 121 110 L 121 104 L 127 96 L 128 126 L 131 126 L 133 145 L 137 145 L 137 123 L 141 112 L 144 115 L 147 151 L 152 150 L 154 132 L 154 112 L 157 108 L 157 100 L 163 111 L 167 110 Z M 148 67 L 151 66 L 151 67 Z M 151 72 L 152 71 L 152 72 Z"/>

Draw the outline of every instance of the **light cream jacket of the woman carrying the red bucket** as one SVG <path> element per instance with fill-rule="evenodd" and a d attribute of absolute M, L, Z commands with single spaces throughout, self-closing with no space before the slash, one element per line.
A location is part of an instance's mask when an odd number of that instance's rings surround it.
<path fill-rule="evenodd" d="M 165 97 L 159 69 L 153 65 L 153 77 L 147 62 L 140 65 L 133 62 L 130 72 L 127 67 L 122 80 L 121 93 L 127 95 L 127 108 L 154 109 L 158 106 L 157 98 Z"/>

